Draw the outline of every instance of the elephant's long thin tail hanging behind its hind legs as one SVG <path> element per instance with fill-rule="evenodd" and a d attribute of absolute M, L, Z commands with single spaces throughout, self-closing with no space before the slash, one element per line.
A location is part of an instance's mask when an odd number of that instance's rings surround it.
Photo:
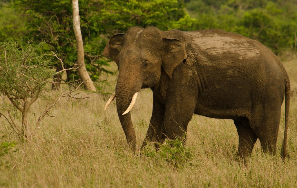
<path fill-rule="evenodd" d="M 284 140 L 282 143 L 281 156 L 282 159 L 285 160 L 286 157 L 290 158 L 287 152 L 287 132 L 288 132 L 288 124 L 289 124 L 289 108 L 290 108 L 290 80 L 287 78 L 286 89 L 285 89 L 285 132 L 284 132 Z"/>

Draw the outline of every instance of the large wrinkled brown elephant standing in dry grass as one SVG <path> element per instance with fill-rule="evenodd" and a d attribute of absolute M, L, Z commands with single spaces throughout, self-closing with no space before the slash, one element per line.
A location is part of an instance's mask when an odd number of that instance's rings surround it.
<path fill-rule="evenodd" d="M 290 81 L 280 60 L 260 42 L 217 29 L 131 27 L 126 34 L 111 37 L 103 54 L 119 67 L 116 106 L 132 148 L 130 112 L 122 113 L 136 92 L 151 88 L 153 113 L 143 146 L 183 137 L 195 113 L 233 119 L 240 158 L 249 157 L 257 138 L 264 152 L 275 154 L 286 96 L 282 157 L 287 156 Z"/>

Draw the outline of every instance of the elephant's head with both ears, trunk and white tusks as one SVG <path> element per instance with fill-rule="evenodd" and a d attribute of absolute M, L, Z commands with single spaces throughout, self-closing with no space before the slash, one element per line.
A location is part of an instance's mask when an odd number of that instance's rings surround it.
<path fill-rule="evenodd" d="M 119 76 L 116 91 L 105 109 L 116 98 L 119 119 L 128 144 L 135 149 L 135 131 L 130 110 L 138 91 L 158 84 L 163 68 L 171 78 L 173 69 L 186 58 L 185 44 L 166 38 L 164 31 L 151 27 L 131 27 L 126 34 L 115 34 L 107 43 L 103 55 L 116 62 Z"/>

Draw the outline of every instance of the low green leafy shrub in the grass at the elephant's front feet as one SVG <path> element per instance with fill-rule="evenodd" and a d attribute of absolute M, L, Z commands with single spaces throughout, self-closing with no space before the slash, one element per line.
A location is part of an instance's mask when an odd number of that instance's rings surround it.
<path fill-rule="evenodd" d="M 143 149 L 142 154 L 152 158 L 155 161 L 164 161 L 173 168 L 192 165 L 192 152 L 190 148 L 183 145 L 182 139 L 165 140 L 163 144 L 159 143 L 159 149 L 149 148 Z"/>

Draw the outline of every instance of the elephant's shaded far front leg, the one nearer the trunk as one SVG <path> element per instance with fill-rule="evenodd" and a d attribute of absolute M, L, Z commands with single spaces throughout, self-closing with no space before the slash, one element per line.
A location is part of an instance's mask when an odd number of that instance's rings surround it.
<path fill-rule="evenodd" d="M 141 148 L 145 147 L 147 143 L 162 142 L 162 132 L 164 131 L 164 113 L 165 107 L 158 100 L 157 97 L 153 94 L 153 113 L 151 115 L 151 121 L 149 124 L 149 129 L 146 133 L 146 138 L 143 141 Z M 163 136 L 164 137 L 164 136 Z"/>

